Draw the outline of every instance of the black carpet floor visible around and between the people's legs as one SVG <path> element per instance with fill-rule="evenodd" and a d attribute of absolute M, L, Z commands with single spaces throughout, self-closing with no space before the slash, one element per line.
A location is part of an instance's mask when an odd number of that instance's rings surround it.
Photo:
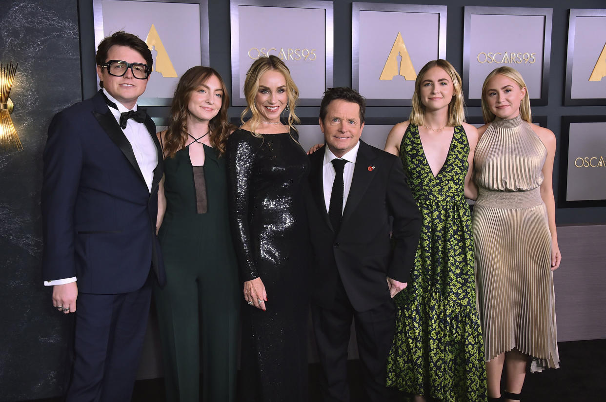
<path fill-rule="evenodd" d="M 528 374 L 524 402 L 604 402 L 606 401 L 606 339 L 560 342 L 560 367 Z M 310 402 L 319 401 L 318 364 L 310 364 Z M 358 360 L 349 362 L 351 402 L 364 402 L 361 368 Z M 399 394 L 402 402 L 410 399 Z M 60 402 L 59 398 L 35 402 Z M 164 402 L 161 378 L 137 381 L 133 402 Z M 285 401 L 287 402 L 287 401 Z M 445 402 L 445 401 L 444 401 Z"/>

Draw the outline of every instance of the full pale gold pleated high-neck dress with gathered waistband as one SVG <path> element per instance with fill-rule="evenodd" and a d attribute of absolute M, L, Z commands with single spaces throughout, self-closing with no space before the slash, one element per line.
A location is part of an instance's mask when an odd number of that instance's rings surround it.
<path fill-rule="evenodd" d="M 558 367 L 551 234 L 541 198 L 547 148 L 519 116 L 496 119 L 476 147 L 471 219 L 484 354 L 531 356 L 530 371 Z"/>

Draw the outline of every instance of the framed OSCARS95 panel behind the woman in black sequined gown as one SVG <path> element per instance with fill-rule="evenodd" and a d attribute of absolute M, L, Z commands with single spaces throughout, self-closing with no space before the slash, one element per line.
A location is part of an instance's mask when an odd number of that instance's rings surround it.
<path fill-rule="evenodd" d="M 286 31 L 276 29 L 286 25 Z M 299 87 L 299 105 L 319 106 L 333 85 L 333 3 L 231 0 L 233 105 L 246 105 L 246 72 L 253 61 L 270 54 L 288 66 Z"/>

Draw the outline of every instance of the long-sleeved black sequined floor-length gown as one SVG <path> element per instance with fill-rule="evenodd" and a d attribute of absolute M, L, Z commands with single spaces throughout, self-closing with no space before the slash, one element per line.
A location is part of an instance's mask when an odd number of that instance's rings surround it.
<path fill-rule="evenodd" d="M 239 129 L 227 169 L 241 280 L 261 277 L 267 291 L 267 311 L 242 297 L 241 400 L 307 402 L 307 155 L 289 133 Z"/>

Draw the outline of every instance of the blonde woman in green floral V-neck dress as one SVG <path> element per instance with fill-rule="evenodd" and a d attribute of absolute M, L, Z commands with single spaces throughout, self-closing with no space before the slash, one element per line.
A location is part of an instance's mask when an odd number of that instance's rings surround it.
<path fill-rule="evenodd" d="M 465 197 L 478 131 L 465 124 L 461 77 L 442 59 L 415 82 L 410 120 L 393 127 L 385 151 L 401 157 L 423 216 L 412 280 L 396 295 L 396 336 L 387 385 L 415 402 L 486 401 L 476 304 L 473 238 Z"/>

